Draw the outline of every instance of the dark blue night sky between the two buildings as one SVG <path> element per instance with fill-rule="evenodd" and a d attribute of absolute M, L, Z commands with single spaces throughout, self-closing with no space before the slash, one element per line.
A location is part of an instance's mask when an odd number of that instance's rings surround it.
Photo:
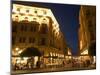
<path fill-rule="evenodd" d="M 35 3 L 39 4 L 40 6 L 50 8 L 60 25 L 60 29 L 63 32 L 64 37 L 66 38 L 67 45 L 72 49 L 72 54 L 77 54 L 80 5 L 18 1 L 14 3 L 20 3 L 25 5 L 33 5 Z"/>

